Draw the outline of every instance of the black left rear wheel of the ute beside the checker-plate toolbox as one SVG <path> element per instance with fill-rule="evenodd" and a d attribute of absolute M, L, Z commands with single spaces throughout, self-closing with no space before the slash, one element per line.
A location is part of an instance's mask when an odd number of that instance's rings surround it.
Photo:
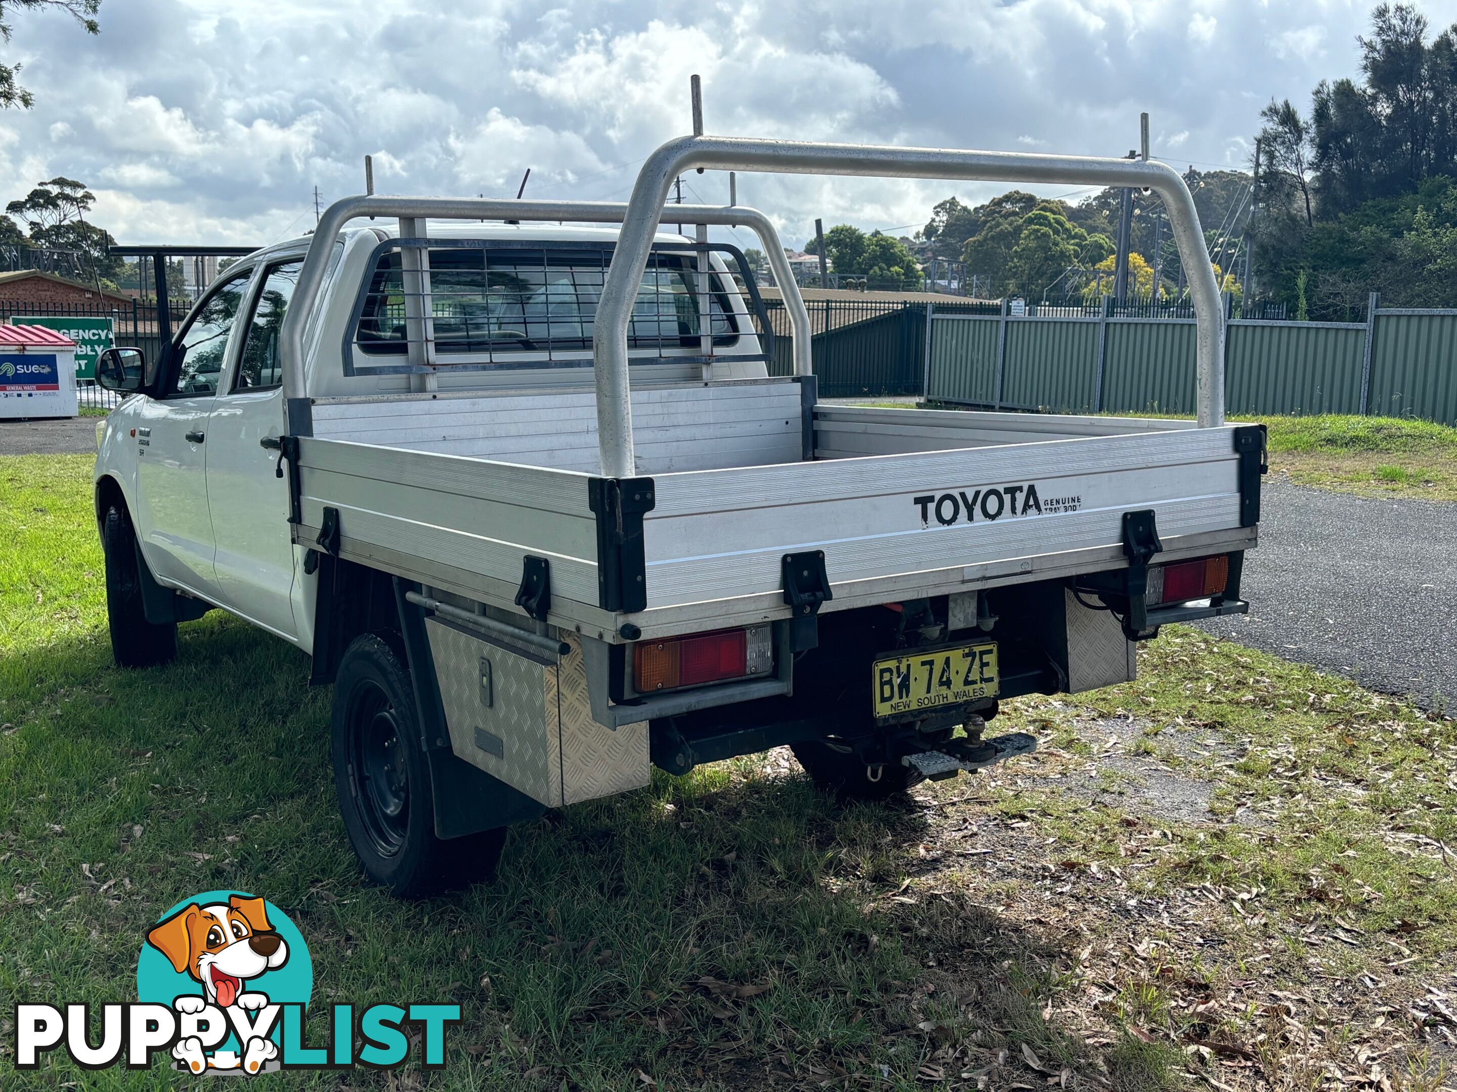
<path fill-rule="evenodd" d="M 334 786 L 364 872 L 401 898 L 495 874 L 506 830 L 436 837 L 434 794 L 409 673 L 379 636 L 354 639 L 334 681 Z"/>

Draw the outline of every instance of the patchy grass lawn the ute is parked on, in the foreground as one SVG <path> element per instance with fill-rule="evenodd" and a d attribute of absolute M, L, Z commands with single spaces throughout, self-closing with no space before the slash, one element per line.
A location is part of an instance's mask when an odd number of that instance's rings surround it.
<path fill-rule="evenodd" d="M 841 808 L 784 751 L 654 773 L 405 904 L 350 855 L 303 655 L 208 616 L 111 665 L 90 462 L 0 459 L 0 1088 L 194 1086 L 16 1073 L 9 1018 L 134 996 L 208 888 L 293 916 L 316 1000 L 463 1008 L 441 1072 L 270 1086 L 1454 1086 L 1451 721 L 1170 628 L 1138 683 L 1010 703 L 1043 748 L 994 776 Z"/>

